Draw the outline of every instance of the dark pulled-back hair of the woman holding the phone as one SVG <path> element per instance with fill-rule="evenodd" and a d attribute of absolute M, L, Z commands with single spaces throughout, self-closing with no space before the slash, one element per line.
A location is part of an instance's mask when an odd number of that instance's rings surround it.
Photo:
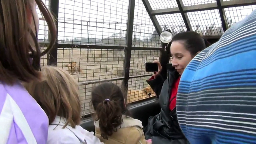
<path fill-rule="evenodd" d="M 191 56 L 195 56 L 197 52 L 210 46 L 206 39 L 203 39 L 200 34 L 194 31 L 178 33 L 172 38 L 172 42 L 174 41 L 181 41 Z"/>

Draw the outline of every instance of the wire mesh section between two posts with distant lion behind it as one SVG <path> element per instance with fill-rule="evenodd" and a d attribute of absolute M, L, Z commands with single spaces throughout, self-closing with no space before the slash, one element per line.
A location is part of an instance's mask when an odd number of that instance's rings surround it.
<path fill-rule="evenodd" d="M 123 76 L 124 50 L 58 48 L 57 66 L 78 82 L 117 78 Z"/>

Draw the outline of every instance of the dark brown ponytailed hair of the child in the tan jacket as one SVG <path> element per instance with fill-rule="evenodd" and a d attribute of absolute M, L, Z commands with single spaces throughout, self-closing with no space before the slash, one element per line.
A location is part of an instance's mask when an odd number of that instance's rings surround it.
<path fill-rule="evenodd" d="M 94 88 L 91 102 L 96 112 L 95 120 L 99 120 L 101 136 L 107 139 L 121 125 L 122 115 L 128 115 L 124 94 L 117 85 L 107 82 Z"/>

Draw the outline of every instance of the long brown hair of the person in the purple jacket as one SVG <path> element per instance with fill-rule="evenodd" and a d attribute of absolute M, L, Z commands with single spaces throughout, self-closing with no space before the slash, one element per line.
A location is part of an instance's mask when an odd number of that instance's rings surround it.
<path fill-rule="evenodd" d="M 36 6 L 49 26 L 50 44 L 40 52 L 37 35 L 39 19 Z M 56 26 L 41 0 L 0 0 L 0 81 L 12 85 L 18 79 L 40 78 L 40 56 L 53 47 Z"/>

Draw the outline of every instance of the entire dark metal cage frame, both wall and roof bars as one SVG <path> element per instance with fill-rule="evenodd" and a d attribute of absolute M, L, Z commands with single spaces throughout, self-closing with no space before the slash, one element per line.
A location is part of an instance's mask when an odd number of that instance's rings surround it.
<path fill-rule="evenodd" d="M 168 9 L 157 9 L 153 10 L 150 6 L 149 0 L 141 0 L 149 14 L 150 19 L 154 27 L 156 28 L 157 34 L 160 35 L 162 33 L 162 28 L 157 21 L 156 15 L 163 15 L 163 14 L 173 14 L 173 13 L 181 13 L 183 18 L 185 27 L 187 31 L 190 31 L 191 25 L 190 21 L 187 16 L 187 12 L 195 12 L 195 11 L 202 11 L 202 10 L 213 10 L 218 9 L 219 15 L 221 18 L 221 25 L 223 31 L 227 30 L 227 21 L 225 19 L 225 12 L 224 8 L 228 7 L 236 7 L 236 6 L 248 6 L 252 4 L 256 4 L 256 0 L 232 0 L 232 1 L 222 1 L 216 0 L 216 3 L 207 3 L 207 4 L 200 4 L 200 5 L 193 5 L 193 6 L 184 6 L 182 0 L 176 0 L 178 7 L 175 8 L 168 8 Z M 56 19 L 56 26 L 58 28 L 58 13 L 59 13 L 59 0 L 49 0 L 49 9 L 53 13 Z M 134 9 L 135 9 L 135 0 L 129 0 L 128 6 L 128 21 L 127 21 L 127 32 L 126 32 L 126 41 L 125 46 L 103 46 L 103 45 L 87 45 L 87 44 L 62 44 L 62 43 L 55 43 L 51 51 L 47 54 L 47 65 L 57 65 L 57 50 L 58 48 L 92 48 L 92 49 L 107 49 L 107 50 L 124 50 L 124 68 L 123 68 L 123 76 L 118 78 L 111 78 L 111 79 L 102 79 L 97 81 L 85 81 L 81 82 L 80 85 L 88 85 L 88 84 L 97 84 L 100 82 L 106 81 L 117 81 L 122 80 L 122 88 L 124 89 L 125 93 L 127 94 L 128 91 L 128 82 L 129 79 L 134 78 L 143 78 L 150 76 L 151 74 L 143 74 L 143 75 L 130 75 L 130 60 L 131 60 L 131 53 L 134 50 L 150 50 L 150 51 L 159 51 L 160 54 L 160 62 L 162 65 L 169 63 L 169 60 L 166 59 L 166 56 L 163 56 L 163 52 L 165 44 L 161 44 L 161 47 L 133 47 L 132 46 L 132 36 L 133 36 L 133 26 L 134 26 Z M 58 34 L 57 34 L 58 35 Z M 205 36 L 206 38 L 220 38 L 221 35 L 213 35 L 213 36 Z M 58 39 L 56 38 L 56 41 Z M 41 47 L 47 47 L 47 43 L 40 43 Z M 87 115 L 90 116 L 90 115 Z M 84 116 L 84 117 L 87 117 Z"/>

